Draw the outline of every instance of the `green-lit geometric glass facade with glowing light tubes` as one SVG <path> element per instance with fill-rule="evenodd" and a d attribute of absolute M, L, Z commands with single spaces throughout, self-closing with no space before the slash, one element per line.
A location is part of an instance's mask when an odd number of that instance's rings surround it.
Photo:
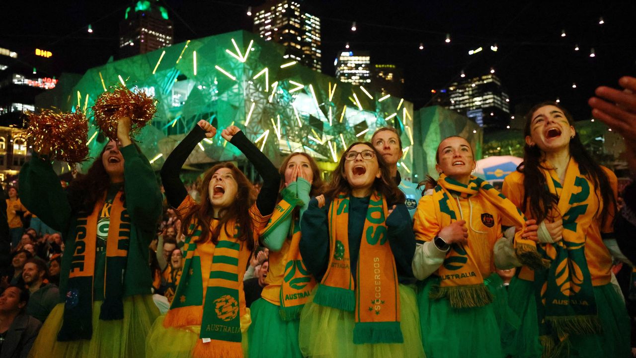
<path fill-rule="evenodd" d="M 95 157 L 106 143 L 90 110 L 97 96 L 122 81 L 153 95 L 155 118 L 136 139 L 155 169 L 202 119 L 218 129 L 239 126 L 275 164 L 290 152 L 307 152 L 322 169 L 333 169 L 347 145 L 368 141 L 387 125 L 399 131 L 405 151 L 413 146 L 412 103 L 289 65 L 284 55 L 282 45 L 245 31 L 192 39 L 88 69 L 70 90 L 56 87 L 38 106 L 72 111 L 79 104 Z M 195 148 L 186 164 L 244 161 L 220 133 Z M 409 170 L 412 154 L 403 157 Z M 410 176 L 409 170 L 402 175 Z"/>

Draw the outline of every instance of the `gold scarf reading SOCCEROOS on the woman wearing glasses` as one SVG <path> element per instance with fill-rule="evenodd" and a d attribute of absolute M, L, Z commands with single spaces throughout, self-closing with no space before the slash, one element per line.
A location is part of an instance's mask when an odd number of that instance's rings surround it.
<path fill-rule="evenodd" d="M 318 285 L 314 303 L 354 311 L 354 343 L 402 343 L 399 326 L 399 288 L 395 258 L 385 220 L 387 202 L 371 195 L 363 236 L 351 275 L 349 256 L 349 196 L 339 194 L 329 205 L 329 264 Z"/>

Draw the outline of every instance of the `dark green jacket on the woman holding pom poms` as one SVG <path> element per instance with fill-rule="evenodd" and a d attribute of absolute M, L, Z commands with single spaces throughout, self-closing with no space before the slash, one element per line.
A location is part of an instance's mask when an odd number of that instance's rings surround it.
<path fill-rule="evenodd" d="M 125 207 L 130 215 L 130 247 L 124 276 L 124 296 L 151 294 L 152 276 L 148 245 L 162 214 L 162 195 L 148 159 L 134 145 L 120 148 L 124 159 Z M 66 243 L 60 273 L 60 302 L 66 300 L 66 284 L 75 251 L 77 213 L 71 211 L 60 179 L 45 156 L 34 154 L 20 170 L 20 199 L 29 211 L 54 230 Z"/>

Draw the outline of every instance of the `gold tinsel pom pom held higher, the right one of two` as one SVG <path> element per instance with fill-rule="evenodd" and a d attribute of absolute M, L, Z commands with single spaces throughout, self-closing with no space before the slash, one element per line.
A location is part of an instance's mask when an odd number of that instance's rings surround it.
<path fill-rule="evenodd" d="M 155 116 L 156 101 L 145 92 L 134 93 L 126 87 L 115 87 L 113 92 L 104 92 L 93 106 L 95 124 L 108 138 L 117 139 L 119 118 L 129 117 L 131 135 L 138 134 L 144 125 Z"/>

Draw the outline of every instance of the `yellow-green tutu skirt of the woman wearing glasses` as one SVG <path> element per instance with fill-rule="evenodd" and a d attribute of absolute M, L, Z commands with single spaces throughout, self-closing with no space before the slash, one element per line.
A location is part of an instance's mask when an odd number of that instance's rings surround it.
<path fill-rule="evenodd" d="M 399 285 L 400 328 L 404 343 L 354 344 L 354 313 L 314 304 L 314 294 L 315 289 L 300 313 L 298 343 L 303 355 L 320 358 L 425 357 L 413 287 Z"/>

